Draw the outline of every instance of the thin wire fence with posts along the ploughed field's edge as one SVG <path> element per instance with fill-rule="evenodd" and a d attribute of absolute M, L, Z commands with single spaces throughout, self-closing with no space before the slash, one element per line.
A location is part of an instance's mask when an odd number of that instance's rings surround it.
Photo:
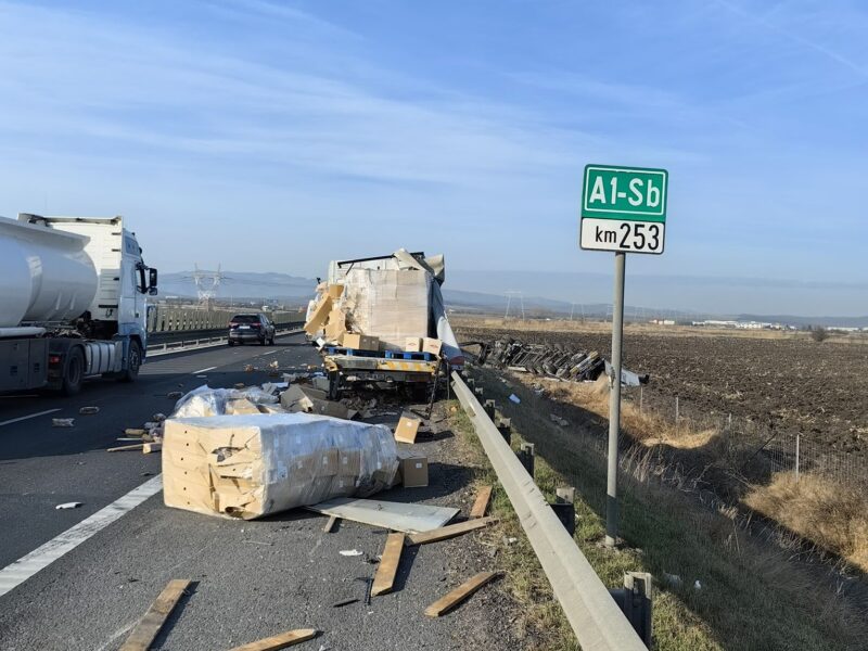
<path fill-rule="evenodd" d="M 643 386 L 629 391 L 626 399 L 641 412 L 663 419 L 676 433 L 714 436 L 715 445 L 737 465 L 761 465 L 770 473 L 793 472 L 796 477 L 819 474 L 868 487 L 868 443 L 861 442 L 860 434 L 824 439 L 822 434 L 793 431 L 773 418 L 702 412 L 678 397 L 654 395 Z"/>

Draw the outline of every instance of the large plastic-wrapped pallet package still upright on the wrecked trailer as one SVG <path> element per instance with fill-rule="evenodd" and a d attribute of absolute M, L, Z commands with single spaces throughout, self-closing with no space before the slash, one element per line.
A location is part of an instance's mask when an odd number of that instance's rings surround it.
<path fill-rule="evenodd" d="M 350 269 L 340 306 L 354 332 L 403 350 L 408 337 L 429 335 L 433 281 L 423 269 Z"/>

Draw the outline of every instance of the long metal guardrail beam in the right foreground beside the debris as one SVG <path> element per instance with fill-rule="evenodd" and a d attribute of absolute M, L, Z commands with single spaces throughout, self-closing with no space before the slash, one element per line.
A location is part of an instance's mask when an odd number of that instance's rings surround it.
<path fill-rule="evenodd" d="M 457 372 L 452 372 L 452 387 L 583 651 L 647 651 L 533 477 Z"/>

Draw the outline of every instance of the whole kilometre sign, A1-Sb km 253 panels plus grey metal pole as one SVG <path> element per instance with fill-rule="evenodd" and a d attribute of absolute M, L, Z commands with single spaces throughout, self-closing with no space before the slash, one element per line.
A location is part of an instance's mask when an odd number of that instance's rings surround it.
<path fill-rule="evenodd" d="M 579 246 L 615 252 L 612 304 L 612 376 L 609 399 L 609 455 L 605 490 L 605 545 L 617 541 L 617 467 L 621 430 L 621 347 L 624 337 L 624 277 L 627 253 L 663 253 L 665 169 L 587 165 L 582 189 Z"/>

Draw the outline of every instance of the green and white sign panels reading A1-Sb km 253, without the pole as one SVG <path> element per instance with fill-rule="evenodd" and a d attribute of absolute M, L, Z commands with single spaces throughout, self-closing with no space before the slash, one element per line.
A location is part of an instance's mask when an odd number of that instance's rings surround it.
<path fill-rule="evenodd" d="M 665 169 L 587 165 L 579 246 L 663 253 L 668 180 Z"/>

